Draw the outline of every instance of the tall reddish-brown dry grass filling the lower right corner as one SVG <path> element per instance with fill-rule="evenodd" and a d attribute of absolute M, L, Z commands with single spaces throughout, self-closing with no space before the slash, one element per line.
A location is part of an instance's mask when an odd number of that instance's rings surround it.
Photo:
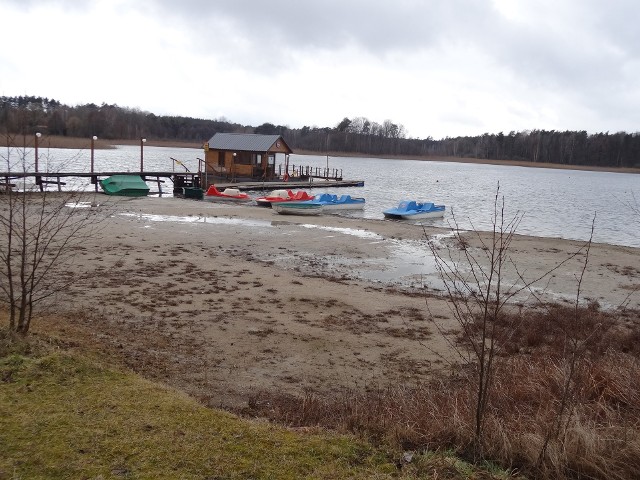
<path fill-rule="evenodd" d="M 512 342 L 494 377 L 485 456 L 533 478 L 640 478 L 639 313 L 614 317 L 595 305 L 547 306 L 502 325 Z M 263 392 L 250 409 L 288 425 L 465 456 L 474 440 L 475 378 L 453 370 L 418 387 L 333 397 Z"/>

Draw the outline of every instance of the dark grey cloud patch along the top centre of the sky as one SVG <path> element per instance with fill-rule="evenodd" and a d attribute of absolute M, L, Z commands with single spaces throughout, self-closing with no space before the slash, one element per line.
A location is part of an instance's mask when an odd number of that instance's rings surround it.
<path fill-rule="evenodd" d="M 167 15 L 188 21 L 228 22 L 251 42 L 333 49 L 352 43 L 371 51 L 428 48 L 443 36 L 455 40 L 484 23 L 486 7 L 472 0 L 372 2 L 362 0 L 213 1 L 179 5 L 157 0 Z"/>

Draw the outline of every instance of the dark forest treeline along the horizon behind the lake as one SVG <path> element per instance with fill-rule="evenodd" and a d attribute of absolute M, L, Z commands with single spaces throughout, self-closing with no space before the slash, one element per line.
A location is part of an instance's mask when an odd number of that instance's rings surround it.
<path fill-rule="evenodd" d="M 158 116 L 118 105 L 69 106 L 34 97 L 0 97 L 0 133 L 205 142 L 214 133 L 280 134 L 294 151 L 399 157 L 462 157 L 603 167 L 640 167 L 640 133 L 530 130 L 434 140 L 407 138 L 402 125 L 364 117 L 334 127 L 254 127 L 222 118 Z"/>

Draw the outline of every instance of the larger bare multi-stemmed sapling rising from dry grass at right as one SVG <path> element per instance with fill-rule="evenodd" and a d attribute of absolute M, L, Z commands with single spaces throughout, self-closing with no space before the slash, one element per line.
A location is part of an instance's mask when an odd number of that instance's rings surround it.
<path fill-rule="evenodd" d="M 521 293 L 531 293 L 534 284 L 549 277 L 561 265 L 575 257 L 575 252 L 549 271 L 533 279 L 525 279 L 517 270 L 510 256 L 511 242 L 522 220 L 516 213 L 508 218 L 505 213 L 504 197 L 500 198 L 500 186 L 496 190 L 492 230 L 487 236 L 473 228 L 471 235 L 479 241 L 480 248 L 471 248 L 466 232 L 461 231 L 455 215 L 452 232 L 455 249 L 440 246 L 429 241 L 429 248 L 435 259 L 436 268 L 444 285 L 445 296 L 463 338 L 463 347 L 450 341 L 460 363 L 473 381 L 475 404 L 473 406 L 474 457 L 483 457 L 483 437 L 486 414 L 492 393 L 492 382 L 497 369 L 499 354 L 508 345 L 519 307 L 515 297 Z M 517 284 L 505 281 L 509 269 L 517 278 Z M 427 305 L 428 306 L 428 305 Z M 447 332 L 436 324 L 444 338 Z"/>

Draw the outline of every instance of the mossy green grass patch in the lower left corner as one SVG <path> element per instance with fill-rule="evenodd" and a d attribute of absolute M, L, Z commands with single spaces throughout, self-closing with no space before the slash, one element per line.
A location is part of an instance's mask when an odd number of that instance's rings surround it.
<path fill-rule="evenodd" d="M 0 478 L 394 478 L 354 437 L 293 431 L 64 353 L 0 359 Z"/>

